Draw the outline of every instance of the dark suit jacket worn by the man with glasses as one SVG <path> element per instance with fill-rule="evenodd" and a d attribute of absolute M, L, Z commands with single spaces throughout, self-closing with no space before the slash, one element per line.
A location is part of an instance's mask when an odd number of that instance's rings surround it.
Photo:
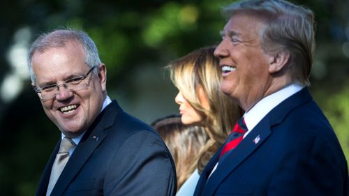
<path fill-rule="evenodd" d="M 45 195 L 60 141 L 36 195 Z M 51 195 L 174 195 L 172 157 L 154 130 L 126 114 L 116 101 L 105 107 L 70 156 Z"/>

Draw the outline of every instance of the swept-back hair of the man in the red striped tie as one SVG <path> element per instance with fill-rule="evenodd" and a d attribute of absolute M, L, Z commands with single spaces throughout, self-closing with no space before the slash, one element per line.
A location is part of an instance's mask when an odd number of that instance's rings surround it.
<path fill-rule="evenodd" d="M 223 8 L 229 20 L 236 12 L 248 12 L 265 22 L 260 31 L 263 50 L 269 53 L 290 52 L 288 68 L 292 82 L 309 86 L 315 50 L 313 11 L 282 0 L 250 0 Z"/>

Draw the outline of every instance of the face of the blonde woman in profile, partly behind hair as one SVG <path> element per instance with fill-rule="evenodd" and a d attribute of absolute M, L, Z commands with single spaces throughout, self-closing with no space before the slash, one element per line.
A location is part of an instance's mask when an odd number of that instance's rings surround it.
<path fill-rule="evenodd" d="M 205 110 L 209 110 L 209 101 L 207 100 L 201 87 L 198 89 L 198 96 L 202 107 L 205 108 Z M 199 112 L 188 103 L 188 100 L 184 98 L 181 91 L 178 92 L 176 98 L 174 98 L 174 101 L 179 105 L 179 113 L 181 114 L 182 123 L 185 125 L 200 125 L 200 123 L 202 123 L 202 117 L 200 116 Z"/>

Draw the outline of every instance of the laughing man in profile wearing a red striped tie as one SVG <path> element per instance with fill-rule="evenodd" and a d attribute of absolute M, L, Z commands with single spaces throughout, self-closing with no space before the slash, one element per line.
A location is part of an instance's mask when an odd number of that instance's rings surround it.
<path fill-rule="evenodd" d="M 306 87 L 313 12 L 280 0 L 233 3 L 223 12 L 228 23 L 215 50 L 221 90 L 246 113 L 241 137 L 232 133 L 211 158 L 194 195 L 348 196 L 346 158 Z"/>

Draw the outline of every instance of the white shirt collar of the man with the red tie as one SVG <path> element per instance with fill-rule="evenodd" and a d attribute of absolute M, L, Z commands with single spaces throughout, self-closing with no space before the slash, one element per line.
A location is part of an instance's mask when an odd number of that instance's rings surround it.
<path fill-rule="evenodd" d="M 271 95 L 262 98 L 258 103 L 256 103 L 251 110 L 244 114 L 244 120 L 248 131 L 245 133 L 244 137 L 250 133 L 253 128 L 270 112 L 279 105 L 283 100 L 289 98 L 293 94 L 302 90 L 303 86 L 301 84 L 290 84 L 285 88 L 272 93 Z"/>

